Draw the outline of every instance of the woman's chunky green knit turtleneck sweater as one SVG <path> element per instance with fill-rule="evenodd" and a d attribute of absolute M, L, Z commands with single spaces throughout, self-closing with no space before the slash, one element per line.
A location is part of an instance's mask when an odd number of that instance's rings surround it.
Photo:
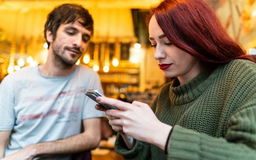
<path fill-rule="evenodd" d="M 234 60 L 182 85 L 174 79 L 151 108 L 174 126 L 168 155 L 139 140 L 128 150 L 117 135 L 125 159 L 256 159 L 256 63 Z"/>

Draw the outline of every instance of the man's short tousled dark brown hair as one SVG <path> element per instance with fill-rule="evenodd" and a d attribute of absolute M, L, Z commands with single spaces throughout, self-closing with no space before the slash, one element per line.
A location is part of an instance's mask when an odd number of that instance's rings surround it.
<path fill-rule="evenodd" d="M 62 4 L 55 7 L 47 16 L 47 20 L 44 25 L 44 38 L 46 39 L 46 31 L 49 30 L 52 32 L 53 40 L 55 40 L 57 30 L 61 24 L 74 23 L 80 18 L 83 21 L 79 21 L 79 23 L 93 34 L 92 16 L 84 7 L 77 4 Z M 49 46 L 50 43 L 47 39 L 46 42 Z"/>

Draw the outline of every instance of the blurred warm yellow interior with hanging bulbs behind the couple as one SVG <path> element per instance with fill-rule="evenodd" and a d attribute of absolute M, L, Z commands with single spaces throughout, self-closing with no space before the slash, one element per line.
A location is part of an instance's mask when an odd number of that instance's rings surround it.
<path fill-rule="evenodd" d="M 145 24 L 150 7 L 159 2 L 1 0 L 0 83 L 7 74 L 24 66 L 45 62 L 48 46 L 44 39 L 44 23 L 47 14 L 55 6 L 64 3 L 81 4 L 92 14 L 94 35 L 88 49 L 76 64 L 87 65 L 98 72 L 107 97 L 128 102 L 139 100 L 150 105 L 157 90 L 169 81 L 156 65 Z M 212 6 L 230 36 L 248 54 L 256 54 L 256 0 L 205 2 Z M 94 150 L 93 158 L 100 158 L 97 156 L 105 153 L 104 159 L 120 159 L 113 151 L 115 133 L 107 122 L 103 121 L 102 131 L 102 140 L 105 141 L 102 141 L 101 149 L 107 150 Z"/>

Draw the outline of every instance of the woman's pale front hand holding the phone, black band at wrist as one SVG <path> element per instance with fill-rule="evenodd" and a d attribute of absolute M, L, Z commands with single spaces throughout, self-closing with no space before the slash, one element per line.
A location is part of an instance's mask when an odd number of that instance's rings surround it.
<path fill-rule="evenodd" d="M 137 140 L 164 148 L 172 126 L 160 122 L 148 104 L 138 101 L 131 104 L 106 97 L 98 97 L 96 100 L 120 109 L 106 110 L 109 124 L 116 130 L 122 130 Z"/>

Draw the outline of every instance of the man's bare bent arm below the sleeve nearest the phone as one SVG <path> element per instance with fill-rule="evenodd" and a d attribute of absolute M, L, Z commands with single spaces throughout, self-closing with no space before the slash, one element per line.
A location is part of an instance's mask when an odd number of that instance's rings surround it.
<path fill-rule="evenodd" d="M 24 159 L 33 159 L 35 157 L 73 154 L 95 149 L 100 142 L 100 118 L 84 119 L 83 126 L 84 132 L 80 134 L 62 140 L 29 145 L 7 158 L 23 157 Z"/>

